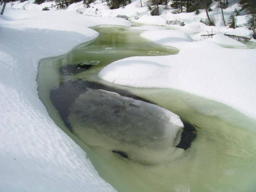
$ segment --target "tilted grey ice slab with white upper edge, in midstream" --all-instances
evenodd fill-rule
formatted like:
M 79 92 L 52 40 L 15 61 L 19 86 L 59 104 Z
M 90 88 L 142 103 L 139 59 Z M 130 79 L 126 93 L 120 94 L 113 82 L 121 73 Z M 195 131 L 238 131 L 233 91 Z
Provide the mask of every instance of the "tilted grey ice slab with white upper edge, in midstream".
M 115 92 L 86 88 L 68 110 L 76 129 L 91 129 L 123 144 L 158 149 L 180 142 L 183 123 L 178 115 Z

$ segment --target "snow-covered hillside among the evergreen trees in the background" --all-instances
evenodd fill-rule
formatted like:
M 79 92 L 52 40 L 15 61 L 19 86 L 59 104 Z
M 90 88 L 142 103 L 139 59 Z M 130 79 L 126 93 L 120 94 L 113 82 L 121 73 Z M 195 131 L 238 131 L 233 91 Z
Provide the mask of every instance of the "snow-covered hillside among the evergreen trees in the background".
M 228 22 L 229 16 L 234 13 L 234 9 L 239 9 L 238 2 L 239 0 L 229 0 L 228 8 L 223 9 L 226 23 Z M 135 0 L 132 1 L 131 4 L 119 9 L 110 9 L 105 0 L 96 0 L 95 2 L 89 4 L 88 8 L 83 4 L 83 1 L 81 1 L 69 5 L 65 11 L 97 17 L 120 17 L 141 24 L 169 26 L 185 33 L 202 32 L 201 34 L 205 34 L 207 31 L 213 31 L 214 33 L 228 32 L 232 35 L 247 36 L 252 38 L 252 30 L 249 30 L 246 26 L 246 15 L 236 16 L 236 25 L 239 28 L 233 29 L 224 27 L 221 12 L 216 9 L 216 2 L 214 1 L 211 4 L 212 11 L 209 12 L 209 15 L 210 18 L 212 18 L 212 20 L 215 22 L 216 26 L 207 26 L 203 23 L 207 22 L 207 16 L 204 10 L 201 10 L 198 15 L 196 15 L 195 12 L 182 12 L 179 14 L 174 14 L 173 12 L 175 10 L 170 7 L 171 3 L 172 2 L 170 1 L 168 9 L 165 9 L 164 5 L 159 5 L 160 16 L 150 15 L 150 11 L 148 9 L 148 0 L 142 0 L 142 7 L 140 7 L 140 0 Z M 38 5 L 34 4 L 34 0 L 28 0 L 22 3 L 20 3 L 20 1 L 16 1 L 7 4 L 8 7 L 25 10 L 42 10 L 44 7 L 51 7 L 52 5 L 55 5 L 54 1 L 45 2 Z M 56 7 L 50 8 L 50 10 L 56 9 Z M 183 24 L 185 24 L 185 26 L 182 26 Z

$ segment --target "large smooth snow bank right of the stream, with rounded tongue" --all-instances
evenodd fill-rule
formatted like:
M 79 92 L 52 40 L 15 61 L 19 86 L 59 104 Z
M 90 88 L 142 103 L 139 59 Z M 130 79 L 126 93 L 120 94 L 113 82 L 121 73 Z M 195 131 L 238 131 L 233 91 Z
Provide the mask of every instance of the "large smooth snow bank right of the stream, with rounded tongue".
M 141 36 L 177 47 L 180 52 L 119 60 L 103 68 L 99 77 L 121 85 L 182 90 L 224 103 L 256 119 L 256 49 L 223 48 L 210 41 L 184 42 L 190 41 L 188 37 L 177 42 L 177 38 L 172 41 L 173 33 L 168 37 L 161 30 L 145 31 Z

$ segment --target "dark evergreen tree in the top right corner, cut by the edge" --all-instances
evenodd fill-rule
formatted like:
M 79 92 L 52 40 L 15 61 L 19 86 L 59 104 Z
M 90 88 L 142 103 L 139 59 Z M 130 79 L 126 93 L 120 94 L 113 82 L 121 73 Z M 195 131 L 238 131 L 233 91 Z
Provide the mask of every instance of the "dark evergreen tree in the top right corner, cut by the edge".
M 241 11 L 244 10 L 246 14 L 248 14 L 248 25 L 249 28 L 252 29 L 253 38 L 256 39 L 256 1 L 255 0 L 241 0 L 239 2 L 241 7 Z

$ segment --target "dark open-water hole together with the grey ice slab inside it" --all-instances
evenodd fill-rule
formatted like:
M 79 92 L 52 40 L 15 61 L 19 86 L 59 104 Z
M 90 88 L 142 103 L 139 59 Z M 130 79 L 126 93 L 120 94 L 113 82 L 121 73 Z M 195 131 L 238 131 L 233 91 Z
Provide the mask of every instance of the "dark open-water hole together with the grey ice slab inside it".
M 171 111 L 103 84 L 64 82 L 51 90 L 50 99 L 66 126 L 85 143 L 89 139 L 92 145 L 116 148 L 140 163 L 168 160 L 175 147 L 187 149 L 196 137 L 195 128 L 184 121 L 183 128 Z

